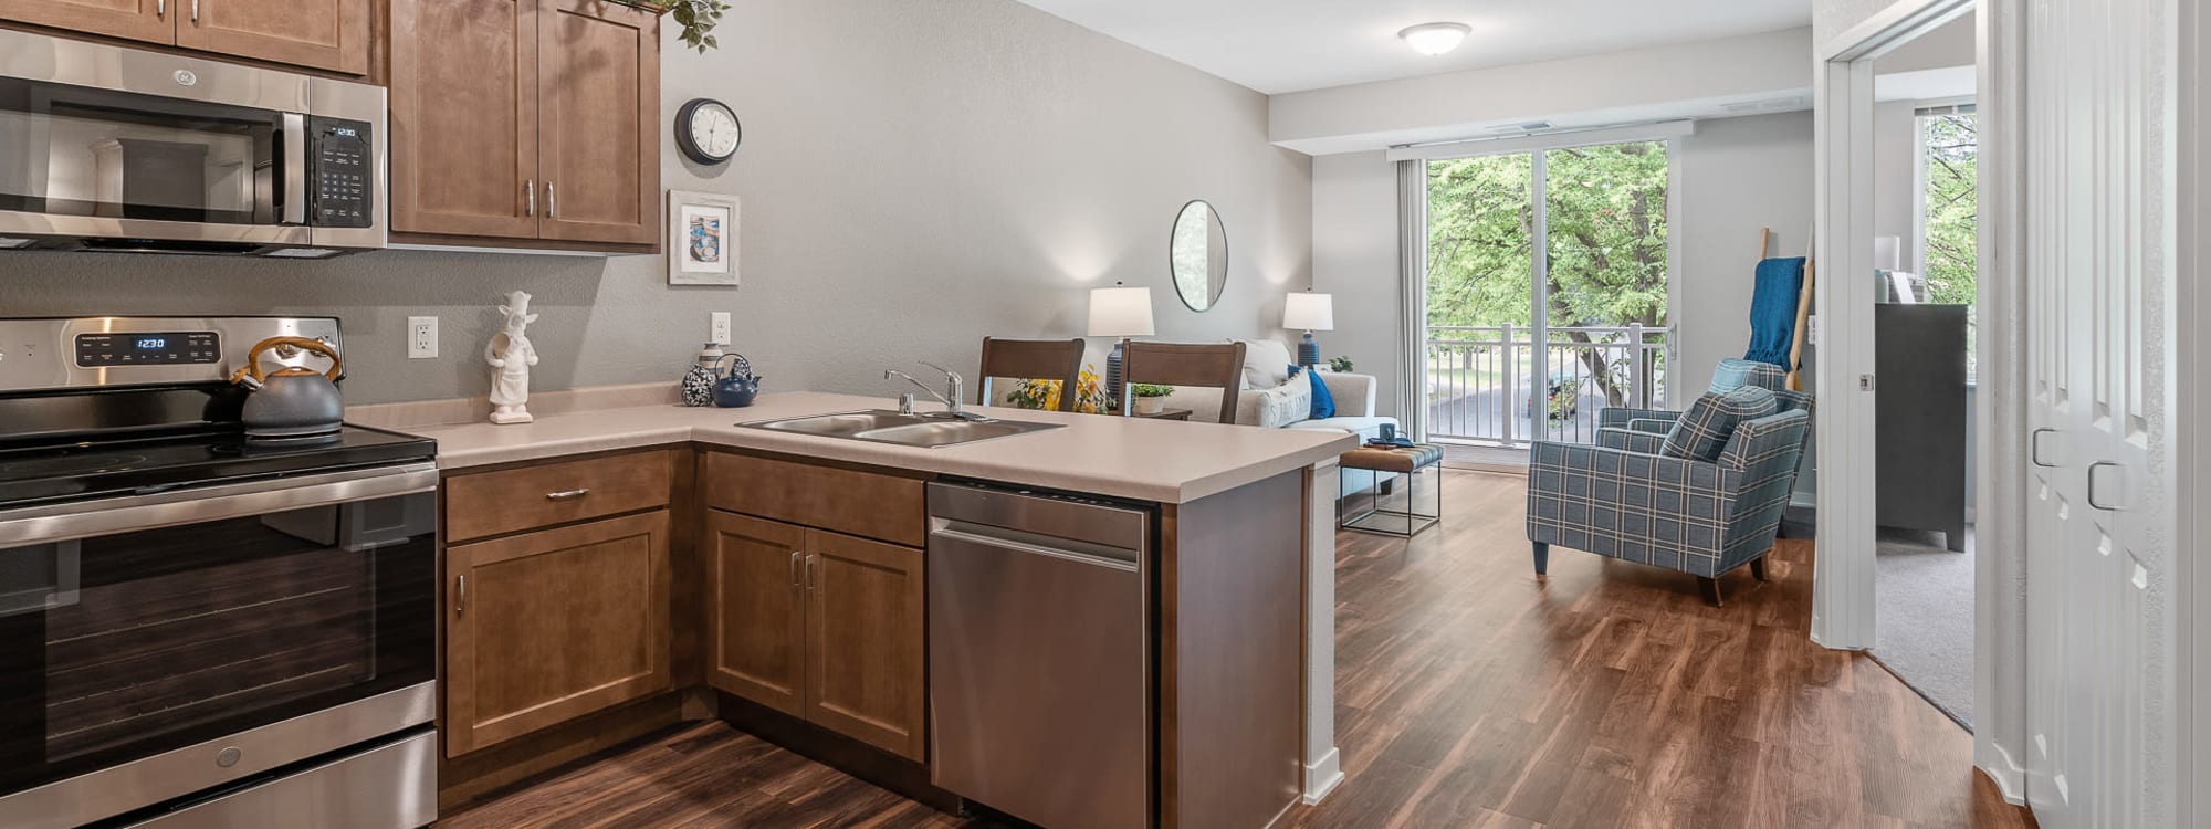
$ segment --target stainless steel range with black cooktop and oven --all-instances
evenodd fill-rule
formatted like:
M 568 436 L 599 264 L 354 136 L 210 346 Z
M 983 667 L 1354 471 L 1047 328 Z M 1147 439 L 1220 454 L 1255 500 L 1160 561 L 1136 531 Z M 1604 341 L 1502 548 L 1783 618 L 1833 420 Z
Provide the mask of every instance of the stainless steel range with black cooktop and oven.
M 436 820 L 436 444 L 248 440 L 270 336 L 0 321 L 0 827 Z

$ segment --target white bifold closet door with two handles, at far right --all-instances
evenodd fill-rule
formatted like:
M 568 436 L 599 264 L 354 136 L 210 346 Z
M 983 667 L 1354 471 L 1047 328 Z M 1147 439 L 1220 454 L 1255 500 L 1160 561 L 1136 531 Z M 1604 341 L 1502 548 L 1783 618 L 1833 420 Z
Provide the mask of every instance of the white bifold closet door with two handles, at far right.
M 2052 829 L 2173 820 L 2173 2 L 2027 15 L 2027 800 Z

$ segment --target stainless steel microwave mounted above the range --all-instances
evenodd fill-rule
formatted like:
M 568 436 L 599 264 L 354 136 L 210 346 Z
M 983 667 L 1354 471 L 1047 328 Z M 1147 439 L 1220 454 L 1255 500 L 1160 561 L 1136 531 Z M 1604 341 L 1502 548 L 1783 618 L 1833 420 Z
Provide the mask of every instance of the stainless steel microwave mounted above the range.
M 336 256 L 387 239 L 385 91 L 0 31 L 0 250 Z

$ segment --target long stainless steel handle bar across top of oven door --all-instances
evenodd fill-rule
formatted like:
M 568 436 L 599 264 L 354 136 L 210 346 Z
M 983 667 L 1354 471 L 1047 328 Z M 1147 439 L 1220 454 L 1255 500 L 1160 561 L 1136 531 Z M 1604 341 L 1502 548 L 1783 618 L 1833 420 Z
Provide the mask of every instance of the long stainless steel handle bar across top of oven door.
M 0 548 L 431 493 L 436 489 L 438 464 L 422 462 L 27 506 L 0 511 Z

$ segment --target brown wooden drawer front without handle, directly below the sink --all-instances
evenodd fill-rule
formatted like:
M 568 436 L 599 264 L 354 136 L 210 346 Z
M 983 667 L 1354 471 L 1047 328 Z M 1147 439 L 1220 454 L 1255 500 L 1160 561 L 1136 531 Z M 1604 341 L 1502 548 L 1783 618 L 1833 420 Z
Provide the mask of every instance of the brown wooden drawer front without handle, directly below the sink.
M 922 480 L 708 453 L 705 504 L 904 546 L 929 539 Z

